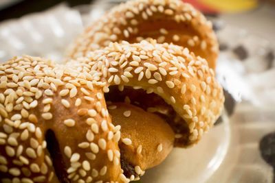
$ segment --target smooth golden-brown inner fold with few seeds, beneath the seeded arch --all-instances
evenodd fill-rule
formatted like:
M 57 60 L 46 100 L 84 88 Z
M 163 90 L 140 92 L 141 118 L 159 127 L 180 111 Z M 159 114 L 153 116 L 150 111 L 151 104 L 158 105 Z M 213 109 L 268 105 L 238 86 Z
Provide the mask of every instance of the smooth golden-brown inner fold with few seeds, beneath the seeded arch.
M 175 134 L 156 114 L 129 103 L 111 103 L 109 113 L 113 124 L 121 126 L 120 151 L 127 162 L 145 170 L 160 164 L 172 150 Z M 131 145 L 125 144 L 127 139 Z

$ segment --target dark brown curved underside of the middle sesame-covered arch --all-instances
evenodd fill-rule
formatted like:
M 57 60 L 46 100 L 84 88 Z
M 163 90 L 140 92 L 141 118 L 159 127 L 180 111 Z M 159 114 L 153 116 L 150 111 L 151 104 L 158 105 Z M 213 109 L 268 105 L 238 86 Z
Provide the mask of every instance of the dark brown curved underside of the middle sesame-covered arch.
M 147 112 L 162 117 L 176 134 L 175 146 L 187 145 L 189 140 L 188 125 L 179 117 L 177 112 L 168 103 L 155 93 L 146 93 L 142 88 L 133 88 L 131 86 L 110 86 L 109 93 L 105 93 L 104 97 L 107 101 L 107 106 L 112 102 L 126 102 L 131 105 L 142 108 Z

